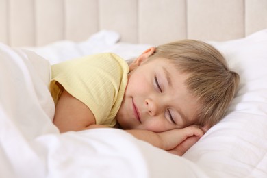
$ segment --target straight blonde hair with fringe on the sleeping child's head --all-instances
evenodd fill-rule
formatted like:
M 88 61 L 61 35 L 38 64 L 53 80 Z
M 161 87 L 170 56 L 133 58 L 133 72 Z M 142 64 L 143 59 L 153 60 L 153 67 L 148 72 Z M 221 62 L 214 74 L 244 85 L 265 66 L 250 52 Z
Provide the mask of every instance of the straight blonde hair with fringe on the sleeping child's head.
M 197 125 L 212 127 L 231 103 L 239 75 L 229 69 L 223 55 L 211 45 L 197 40 L 181 40 L 160 45 L 151 58 L 166 58 L 177 70 L 188 73 L 188 90 L 201 103 Z

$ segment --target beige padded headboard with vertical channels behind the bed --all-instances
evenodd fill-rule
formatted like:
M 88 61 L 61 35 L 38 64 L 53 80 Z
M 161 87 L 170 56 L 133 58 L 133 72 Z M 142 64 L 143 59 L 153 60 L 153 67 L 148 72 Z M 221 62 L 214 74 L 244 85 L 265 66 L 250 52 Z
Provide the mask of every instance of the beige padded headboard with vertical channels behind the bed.
M 0 41 L 40 46 L 101 29 L 124 42 L 230 40 L 267 28 L 267 0 L 0 0 Z

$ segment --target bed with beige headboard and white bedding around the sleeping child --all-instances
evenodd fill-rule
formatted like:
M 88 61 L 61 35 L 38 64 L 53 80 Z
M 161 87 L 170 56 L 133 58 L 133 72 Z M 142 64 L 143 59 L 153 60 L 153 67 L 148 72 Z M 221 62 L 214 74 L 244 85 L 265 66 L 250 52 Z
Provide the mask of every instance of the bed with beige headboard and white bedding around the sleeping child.
M 0 177 L 267 177 L 267 1 L 0 0 Z M 136 57 L 184 38 L 240 74 L 227 114 L 183 156 L 119 129 L 60 134 L 49 66 Z

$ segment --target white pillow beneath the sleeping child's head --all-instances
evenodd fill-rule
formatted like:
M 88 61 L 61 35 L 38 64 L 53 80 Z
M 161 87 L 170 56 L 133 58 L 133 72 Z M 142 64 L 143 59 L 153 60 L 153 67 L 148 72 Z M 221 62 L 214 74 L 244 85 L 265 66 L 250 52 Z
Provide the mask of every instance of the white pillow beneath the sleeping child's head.
M 225 118 L 183 157 L 212 177 L 267 177 L 267 29 L 209 43 L 240 74 L 240 87 Z

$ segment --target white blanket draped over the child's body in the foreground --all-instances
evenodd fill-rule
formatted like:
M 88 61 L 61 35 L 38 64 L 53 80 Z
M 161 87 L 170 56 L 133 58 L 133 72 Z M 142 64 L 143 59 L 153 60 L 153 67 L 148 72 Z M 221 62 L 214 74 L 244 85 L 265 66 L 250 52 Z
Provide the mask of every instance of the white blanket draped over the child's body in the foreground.
M 0 177 L 207 177 L 119 129 L 60 134 L 49 62 L 0 44 Z

